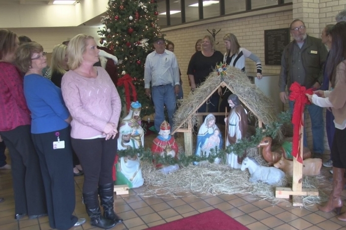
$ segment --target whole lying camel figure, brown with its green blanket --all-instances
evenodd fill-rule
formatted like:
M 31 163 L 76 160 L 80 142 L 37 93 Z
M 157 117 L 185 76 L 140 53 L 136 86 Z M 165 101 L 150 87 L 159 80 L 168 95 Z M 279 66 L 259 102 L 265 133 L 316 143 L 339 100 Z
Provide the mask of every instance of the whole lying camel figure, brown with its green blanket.
M 262 148 L 262 155 L 265 161 L 269 163 L 269 166 L 272 166 L 276 162 L 281 159 L 283 156 L 285 159 L 293 160 L 292 156 L 292 143 L 284 142 L 280 149 L 275 150 L 275 152 L 271 151 L 271 143 L 273 139 L 271 137 L 263 137 L 262 141 L 257 146 L 258 148 Z M 311 152 L 308 148 L 303 148 L 303 159 L 307 159 L 311 157 Z

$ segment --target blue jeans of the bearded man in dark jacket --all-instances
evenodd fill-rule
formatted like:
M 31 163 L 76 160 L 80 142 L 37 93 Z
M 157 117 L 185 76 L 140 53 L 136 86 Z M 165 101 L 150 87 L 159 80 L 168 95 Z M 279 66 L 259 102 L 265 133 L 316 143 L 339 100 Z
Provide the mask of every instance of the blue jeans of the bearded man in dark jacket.
M 293 111 L 294 102 L 289 101 L 290 109 Z M 314 104 L 306 106 L 311 119 L 311 132 L 312 132 L 312 146 L 313 153 L 324 153 L 324 124 L 323 124 L 323 108 Z M 304 117 L 305 120 L 305 117 Z M 305 124 L 304 124 L 304 137 L 303 145 L 307 147 Z

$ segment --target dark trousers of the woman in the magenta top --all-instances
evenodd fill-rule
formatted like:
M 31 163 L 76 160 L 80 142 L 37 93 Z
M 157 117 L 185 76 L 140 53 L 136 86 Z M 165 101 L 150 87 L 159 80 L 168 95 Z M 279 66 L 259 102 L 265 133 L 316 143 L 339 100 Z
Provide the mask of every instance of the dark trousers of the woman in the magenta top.
M 11 156 L 15 214 L 47 213 L 39 157 L 31 139 L 31 126 L 1 131 Z

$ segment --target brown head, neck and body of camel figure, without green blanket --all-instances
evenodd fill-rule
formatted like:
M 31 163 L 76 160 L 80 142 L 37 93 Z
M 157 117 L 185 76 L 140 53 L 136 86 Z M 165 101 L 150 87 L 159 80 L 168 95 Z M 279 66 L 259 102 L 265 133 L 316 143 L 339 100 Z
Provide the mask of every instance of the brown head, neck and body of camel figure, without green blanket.
M 271 151 L 271 143 L 273 139 L 271 137 L 263 137 L 262 141 L 257 146 L 258 148 L 262 147 L 262 155 L 265 161 L 269 163 L 269 166 L 272 166 L 281 159 L 284 153 L 284 148 L 277 149 L 275 152 Z M 292 143 L 290 143 L 292 144 Z M 308 148 L 303 148 L 303 159 L 311 157 L 310 150 Z

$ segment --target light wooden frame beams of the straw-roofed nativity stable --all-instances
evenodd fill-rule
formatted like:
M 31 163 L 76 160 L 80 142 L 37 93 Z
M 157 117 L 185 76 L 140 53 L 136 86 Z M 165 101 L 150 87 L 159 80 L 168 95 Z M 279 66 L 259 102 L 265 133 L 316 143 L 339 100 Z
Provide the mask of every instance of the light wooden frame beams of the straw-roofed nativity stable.
M 216 92 L 216 90 L 220 87 L 227 87 L 230 91 L 232 90 L 232 87 L 230 87 L 228 84 L 226 84 L 224 81 L 221 81 L 220 84 L 216 86 L 216 88 L 198 105 L 198 107 L 193 111 L 186 119 L 187 119 L 187 128 L 181 128 L 184 122 L 181 122 L 179 125 L 174 127 L 174 130 L 172 131 L 172 135 L 175 132 L 184 133 L 184 142 L 185 142 L 185 154 L 186 155 L 192 155 L 193 150 L 193 125 L 192 125 L 192 116 L 196 114 L 198 116 L 198 119 L 203 121 L 203 115 L 213 114 L 213 115 L 224 115 L 224 113 L 197 113 L 197 110 Z M 259 115 L 255 113 L 249 105 L 245 102 L 244 99 L 239 97 L 239 100 L 257 117 L 259 118 Z M 200 123 L 202 123 L 200 121 Z M 259 127 L 262 127 L 262 120 L 259 119 Z

